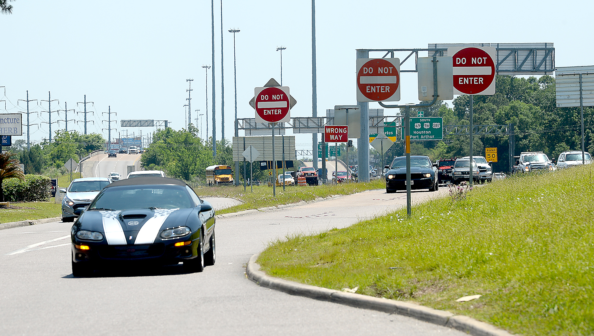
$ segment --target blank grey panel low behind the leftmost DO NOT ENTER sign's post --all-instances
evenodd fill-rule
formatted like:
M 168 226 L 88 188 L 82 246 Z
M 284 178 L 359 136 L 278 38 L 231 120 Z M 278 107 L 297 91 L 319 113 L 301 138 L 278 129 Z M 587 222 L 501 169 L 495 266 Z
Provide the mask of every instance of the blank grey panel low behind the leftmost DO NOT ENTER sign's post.
M 233 161 L 244 160 L 244 139 L 246 149 L 249 145 L 252 145 L 260 153 L 258 160 L 273 160 L 272 137 L 233 137 Z M 276 159 L 282 156 L 282 138 L 277 137 L 276 141 L 274 141 L 274 151 L 276 151 Z M 295 156 L 295 137 L 285 137 L 285 160 L 297 160 Z

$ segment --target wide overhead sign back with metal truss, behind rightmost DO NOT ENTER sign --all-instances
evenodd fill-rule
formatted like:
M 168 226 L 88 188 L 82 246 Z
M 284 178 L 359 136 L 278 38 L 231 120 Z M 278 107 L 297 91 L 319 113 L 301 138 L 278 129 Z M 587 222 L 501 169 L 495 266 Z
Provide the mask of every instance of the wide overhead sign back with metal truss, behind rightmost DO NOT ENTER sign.
M 552 43 L 429 43 L 428 47 L 437 50 L 436 56 L 452 56 L 444 51 L 450 47 L 495 47 L 498 75 L 549 75 L 555 69 Z M 433 56 L 431 51 L 428 56 Z

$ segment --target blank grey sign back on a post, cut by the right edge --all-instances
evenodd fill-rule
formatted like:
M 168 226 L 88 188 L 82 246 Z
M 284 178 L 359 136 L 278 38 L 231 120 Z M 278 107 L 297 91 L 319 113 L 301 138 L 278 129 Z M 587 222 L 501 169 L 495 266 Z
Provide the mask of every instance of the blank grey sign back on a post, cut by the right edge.
M 594 65 L 555 68 L 557 107 L 580 106 L 580 77 L 583 106 L 594 106 Z

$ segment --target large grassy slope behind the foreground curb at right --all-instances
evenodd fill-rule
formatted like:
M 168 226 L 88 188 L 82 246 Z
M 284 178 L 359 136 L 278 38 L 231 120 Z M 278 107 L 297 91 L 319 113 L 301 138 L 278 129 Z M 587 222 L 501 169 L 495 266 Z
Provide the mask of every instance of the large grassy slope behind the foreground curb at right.
M 411 300 L 522 335 L 594 335 L 594 165 L 517 176 L 272 243 L 274 277 Z M 390 268 L 392 267 L 392 268 Z M 482 294 L 470 302 L 458 297 Z

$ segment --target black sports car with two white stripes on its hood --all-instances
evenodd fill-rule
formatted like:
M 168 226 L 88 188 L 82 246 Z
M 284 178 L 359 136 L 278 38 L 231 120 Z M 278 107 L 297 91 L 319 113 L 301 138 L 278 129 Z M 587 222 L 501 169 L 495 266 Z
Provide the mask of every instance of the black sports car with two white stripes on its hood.
M 188 272 L 214 265 L 214 210 L 184 181 L 137 177 L 113 182 L 71 229 L 72 275 L 101 265 L 178 264 Z

